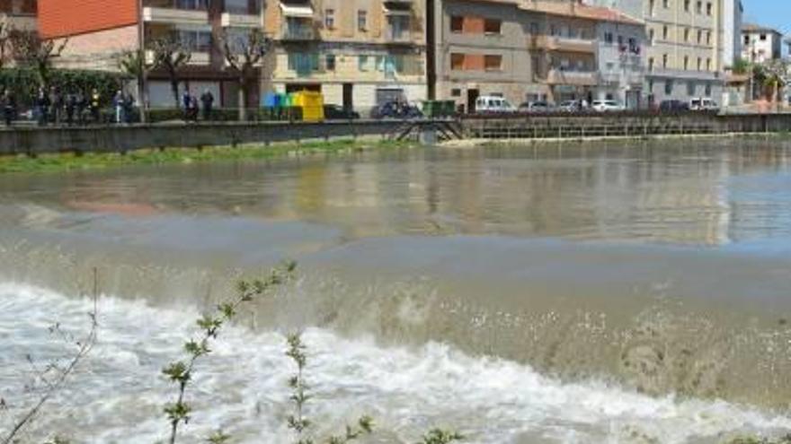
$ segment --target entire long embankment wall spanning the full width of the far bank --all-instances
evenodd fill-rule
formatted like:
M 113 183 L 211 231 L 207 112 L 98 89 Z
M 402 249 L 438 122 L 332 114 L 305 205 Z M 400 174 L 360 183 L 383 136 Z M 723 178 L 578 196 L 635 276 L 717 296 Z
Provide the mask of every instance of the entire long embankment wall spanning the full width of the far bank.
M 680 115 L 615 113 L 582 116 L 468 117 L 443 136 L 547 139 L 610 136 L 791 132 L 791 114 Z M 198 123 L 135 126 L 14 127 L 0 130 L 0 155 L 47 152 L 128 152 L 144 148 L 271 144 L 360 136 L 397 137 L 435 130 L 431 122 L 396 120 L 325 123 Z

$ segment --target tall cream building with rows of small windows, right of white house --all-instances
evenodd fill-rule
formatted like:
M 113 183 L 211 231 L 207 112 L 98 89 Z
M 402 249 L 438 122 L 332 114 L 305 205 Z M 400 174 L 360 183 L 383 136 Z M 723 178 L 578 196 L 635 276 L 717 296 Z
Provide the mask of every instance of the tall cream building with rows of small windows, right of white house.
M 644 20 L 644 96 L 662 100 L 722 97 L 724 8 L 727 0 L 586 0 Z

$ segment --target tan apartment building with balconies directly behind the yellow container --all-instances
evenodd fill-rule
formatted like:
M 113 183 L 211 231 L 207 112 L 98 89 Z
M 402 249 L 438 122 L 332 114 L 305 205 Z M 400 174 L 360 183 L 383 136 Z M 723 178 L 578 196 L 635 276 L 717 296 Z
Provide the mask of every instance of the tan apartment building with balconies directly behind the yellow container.
M 426 99 L 421 0 L 271 0 L 264 29 L 276 42 L 266 91 L 321 91 L 326 103 L 368 112 Z

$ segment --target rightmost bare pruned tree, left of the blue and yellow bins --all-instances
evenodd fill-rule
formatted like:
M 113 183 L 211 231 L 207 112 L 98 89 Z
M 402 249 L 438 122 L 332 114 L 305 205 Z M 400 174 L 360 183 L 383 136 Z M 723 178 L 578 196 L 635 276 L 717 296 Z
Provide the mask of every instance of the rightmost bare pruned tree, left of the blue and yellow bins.
M 246 34 L 223 30 L 218 39 L 229 69 L 239 81 L 239 120 L 247 119 L 247 101 L 257 68 L 271 48 L 271 39 L 262 30 L 254 28 Z

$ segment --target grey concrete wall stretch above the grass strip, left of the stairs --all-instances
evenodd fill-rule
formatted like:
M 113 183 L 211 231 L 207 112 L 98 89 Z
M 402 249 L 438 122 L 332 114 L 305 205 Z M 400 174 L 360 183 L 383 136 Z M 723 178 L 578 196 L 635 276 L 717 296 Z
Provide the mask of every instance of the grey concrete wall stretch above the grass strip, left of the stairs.
M 0 130 L 0 155 L 47 152 L 128 152 L 144 148 L 271 144 L 316 139 L 388 136 L 403 123 L 211 123 Z

